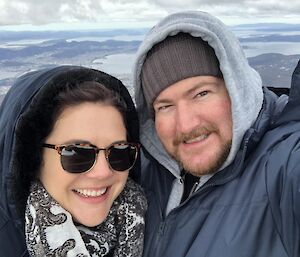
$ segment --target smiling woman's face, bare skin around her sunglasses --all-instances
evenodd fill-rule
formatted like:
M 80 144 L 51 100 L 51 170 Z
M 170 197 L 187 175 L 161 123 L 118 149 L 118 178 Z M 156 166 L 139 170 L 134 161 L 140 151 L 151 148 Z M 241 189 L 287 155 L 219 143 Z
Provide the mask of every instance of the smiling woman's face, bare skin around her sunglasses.
M 126 141 L 126 128 L 118 110 L 101 103 L 82 103 L 62 112 L 45 143 L 84 142 L 106 148 L 116 141 Z M 43 152 L 42 184 L 76 222 L 85 226 L 96 226 L 105 220 L 127 177 L 128 171 L 109 168 L 104 151 L 99 152 L 90 171 L 79 174 L 62 168 L 56 150 L 45 148 Z

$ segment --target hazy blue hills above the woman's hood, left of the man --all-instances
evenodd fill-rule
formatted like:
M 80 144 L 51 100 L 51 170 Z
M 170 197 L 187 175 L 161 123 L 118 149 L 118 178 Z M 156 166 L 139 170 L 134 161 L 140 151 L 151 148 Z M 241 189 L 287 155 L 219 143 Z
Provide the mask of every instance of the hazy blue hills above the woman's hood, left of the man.
M 82 65 L 93 67 L 96 61 L 109 55 L 134 53 L 140 41 L 75 41 L 65 39 L 47 40 L 22 47 L 0 47 L 0 86 L 7 84 L 4 78 L 57 65 Z

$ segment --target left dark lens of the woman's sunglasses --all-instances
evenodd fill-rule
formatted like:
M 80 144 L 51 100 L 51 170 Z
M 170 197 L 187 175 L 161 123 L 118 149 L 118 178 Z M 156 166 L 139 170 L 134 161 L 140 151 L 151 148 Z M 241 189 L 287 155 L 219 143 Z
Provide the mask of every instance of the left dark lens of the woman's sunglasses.
M 61 152 L 61 165 L 70 173 L 81 173 L 93 167 L 96 152 L 91 147 L 66 146 Z

